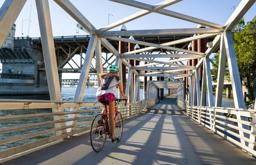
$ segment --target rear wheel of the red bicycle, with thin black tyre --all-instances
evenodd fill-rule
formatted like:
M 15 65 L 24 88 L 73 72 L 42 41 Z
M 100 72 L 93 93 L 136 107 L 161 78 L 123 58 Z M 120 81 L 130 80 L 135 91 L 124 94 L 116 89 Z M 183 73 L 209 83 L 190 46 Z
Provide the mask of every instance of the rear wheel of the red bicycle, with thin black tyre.
M 98 121 L 101 122 L 98 123 Z M 105 134 L 104 124 L 105 117 L 102 114 L 96 115 L 92 121 L 90 140 L 92 149 L 96 152 L 101 151 L 106 142 L 107 135 Z

